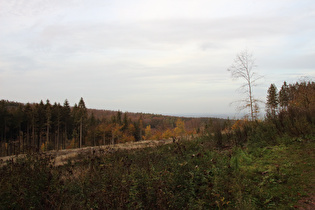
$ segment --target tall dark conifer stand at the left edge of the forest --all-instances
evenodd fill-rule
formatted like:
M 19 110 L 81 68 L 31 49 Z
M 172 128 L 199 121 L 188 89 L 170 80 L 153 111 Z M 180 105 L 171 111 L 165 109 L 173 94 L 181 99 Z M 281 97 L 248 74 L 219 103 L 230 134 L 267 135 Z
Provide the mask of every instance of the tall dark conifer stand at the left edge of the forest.
M 21 104 L 0 102 L 1 154 L 11 155 L 41 149 L 66 148 L 69 139 L 82 145 L 87 109 L 83 98 L 73 108 L 49 100 Z

